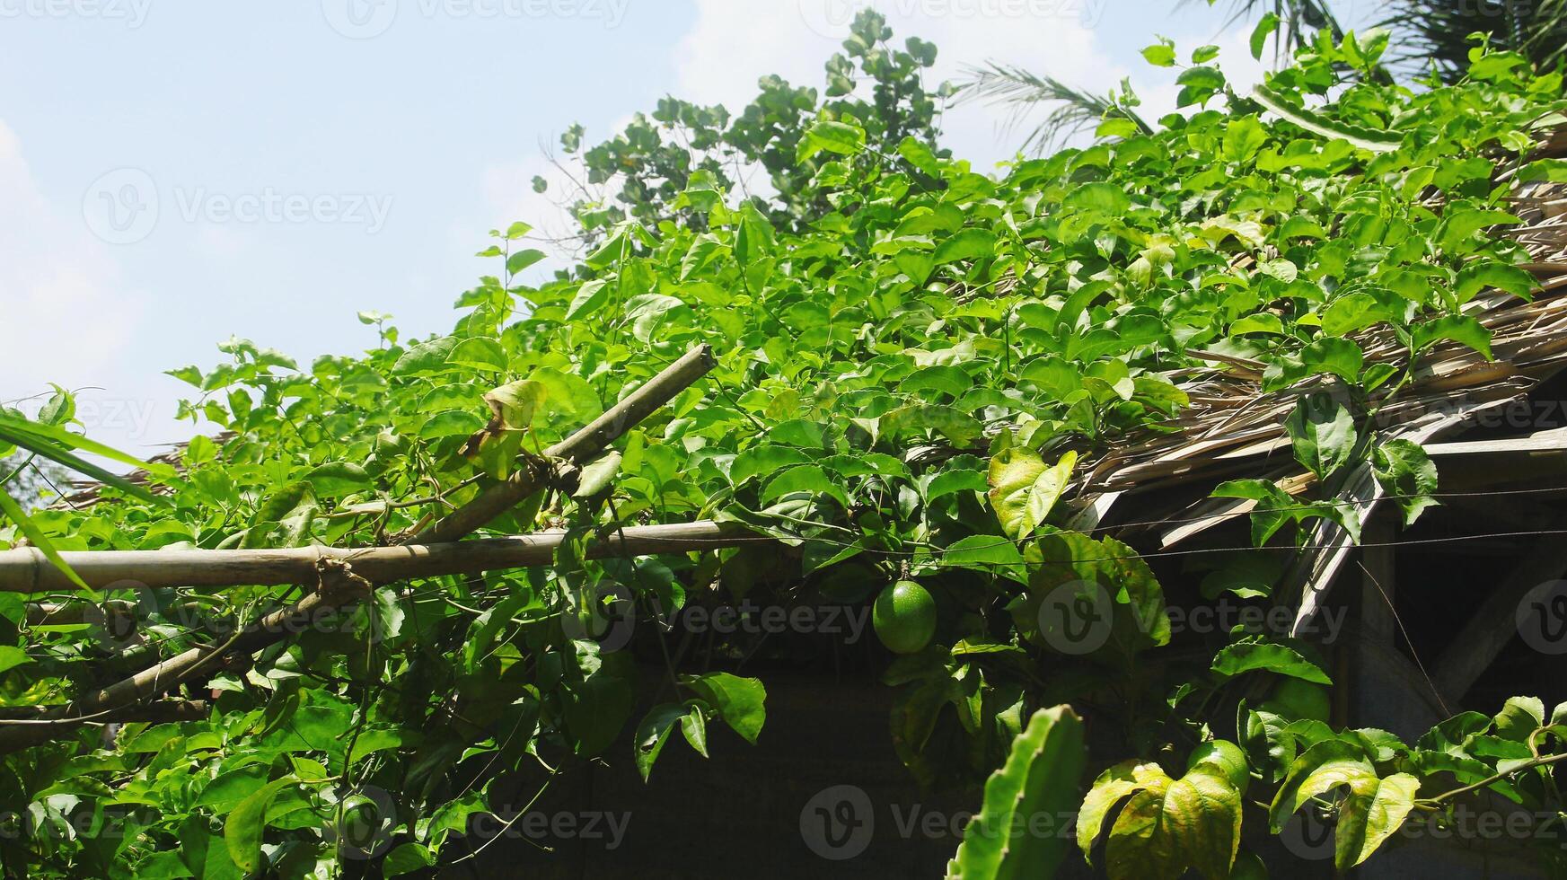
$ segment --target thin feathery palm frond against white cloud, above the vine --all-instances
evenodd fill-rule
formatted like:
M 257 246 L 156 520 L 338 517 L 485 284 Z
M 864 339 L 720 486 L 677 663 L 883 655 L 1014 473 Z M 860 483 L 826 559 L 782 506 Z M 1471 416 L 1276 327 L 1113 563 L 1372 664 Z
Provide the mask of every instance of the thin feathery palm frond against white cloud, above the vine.
M 1094 94 L 1022 67 L 997 63 L 970 67 L 968 80 L 961 88 L 961 102 L 1011 105 L 1008 130 L 1020 125 L 1034 110 L 1050 106 L 1019 147 L 1025 153 L 1040 155 L 1061 139 L 1094 128 L 1103 119 L 1130 119 L 1141 132 L 1153 133 L 1153 128 L 1114 92 Z

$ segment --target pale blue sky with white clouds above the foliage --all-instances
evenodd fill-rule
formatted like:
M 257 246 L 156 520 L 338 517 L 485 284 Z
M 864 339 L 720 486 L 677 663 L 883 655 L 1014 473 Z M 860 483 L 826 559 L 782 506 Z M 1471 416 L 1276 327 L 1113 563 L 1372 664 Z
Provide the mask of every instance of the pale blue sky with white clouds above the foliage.
M 375 344 L 359 310 L 450 329 L 492 271 L 486 230 L 564 230 L 528 186 L 558 179 L 564 128 L 595 142 L 664 94 L 738 108 L 774 72 L 820 86 L 863 5 L 0 0 L 0 401 L 83 388 L 94 437 L 150 454 L 197 431 L 161 371 L 219 362 L 230 335 L 307 363 Z M 1155 33 L 1219 44 L 1232 78 L 1261 69 L 1250 25 L 1200 0 L 874 5 L 937 44 L 937 78 L 989 60 L 1131 77 L 1155 116 L 1175 96 L 1138 55 Z M 1003 116 L 950 111 L 950 146 L 992 168 L 1019 141 Z

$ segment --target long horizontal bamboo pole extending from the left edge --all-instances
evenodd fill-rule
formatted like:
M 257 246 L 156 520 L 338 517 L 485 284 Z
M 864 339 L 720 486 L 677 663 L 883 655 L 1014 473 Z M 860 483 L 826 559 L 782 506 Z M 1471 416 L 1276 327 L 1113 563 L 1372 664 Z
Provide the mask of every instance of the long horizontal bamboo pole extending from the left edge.
M 407 578 L 476 575 L 505 568 L 550 565 L 555 550 L 566 540 L 559 529 L 461 540 L 448 543 L 404 543 L 400 546 L 299 546 L 290 550 L 103 550 L 63 553 L 77 575 L 96 590 L 154 587 L 240 587 L 310 584 L 317 565 L 340 561 L 353 565 L 367 581 L 384 584 Z M 685 553 L 715 546 L 738 546 L 766 540 L 735 523 L 699 520 L 657 526 L 627 526 L 594 540 L 589 556 L 649 556 Z M 0 592 L 39 593 L 77 592 L 58 568 L 36 548 L 0 551 Z M 88 622 L 80 606 L 36 606 L 38 623 Z M 121 606 L 114 606 L 121 611 Z M 125 614 L 132 608 L 122 609 Z

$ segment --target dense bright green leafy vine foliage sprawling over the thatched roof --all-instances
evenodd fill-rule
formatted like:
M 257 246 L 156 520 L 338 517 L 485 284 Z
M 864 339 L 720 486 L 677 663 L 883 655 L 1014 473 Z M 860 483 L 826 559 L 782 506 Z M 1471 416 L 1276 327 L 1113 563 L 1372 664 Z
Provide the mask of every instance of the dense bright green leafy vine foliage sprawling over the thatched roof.
M 1182 64 L 1160 44 L 1149 56 L 1182 66 L 1183 113 L 1153 133 L 1108 119 L 1092 146 L 997 177 L 934 146 L 917 85 L 934 49 L 888 38 L 862 16 L 826 100 L 765 80 L 732 122 L 668 102 L 589 149 L 599 180 L 625 175 L 614 200 L 580 205 L 591 254 L 525 283 L 516 272 L 541 258 L 523 247 L 530 227 L 495 230 L 483 255 L 497 274 L 458 299 L 450 334 L 403 340 L 365 313 L 379 344 L 362 355 L 301 366 L 230 340 L 227 363 L 174 371 L 199 390 L 186 412 L 226 434 L 194 440 L 157 500 L 108 487 L 105 503 L 34 514 L 41 539 L 389 543 L 537 465 L 691 346 L 719 355 L 605 459 L 489 525 L 567 529 L 552 567 L 381 586 L 342 620 L 212 669 L 185 694 L 210 701 L 202 720 L 83 728 L 6 755 L 6 871 L 396 875 L 451 861 L 475 846 L 470 817 L 516 811 L 492 799 L 497 778 L 555 778 L 600 755 L 652 777 L 664 748 L 757 742 L 763 681 L 722 651 L 718 672 L 682 667 L 661 619 L 747 595 L 865 601 L 899 579 L 939 611 L 931 642 L 887 667 L 899 756 L 931 784 L 1001 767 L 983 816 L 1081 803 L 1078 842 L 1111 877 L 1260 875 L 1246 841 L 1307 808 L 1337 816 L 1341 867 L 1465 786 L 1558 810 L 1567 709 L 1517 698 L 1413 744 L 1335 728 L 1310 645 L 1172 634 L 1149 561 L 1073 526 L 1087 463 L 1164 431 L 1214 354 L 1263 365 L 1269 390 L 1324 388 L 1287 426 L 1318 495 L 1216 489 L 1257 501 L 1258 545 L 1304 542 L 1324 518 L 1357 529 L 1332 490 L 1368 459 L 1418 517 L 1429 459 L 1377 442 L 1366 417 L 1435 346 L 1487 351 L 1464 313 L 1481 290 L 1529 296 L 1525 254 L 1496 235 L 1517 218 L 1493 174 L 1561 122 L 1561 75 L 1476 50 L 1465 80 L 1410 89 L 1363 75 L 1385 39 L 1323 36 L 1247 97 L 1211 47 Z M 691 149 L 671 141 L 679 130 Z M 733 163 L 765 168 L 774 193 L 732 191 Z M 1562 175 L 1545 161 L 1517 177 Z M 1401 357 L 1365 357 L 1368 329 L 1393 334 Z M 625 525 L 697 518 L 777 542 L 584 553 Z M 1238 554 L 1205 598 L 1290 608 L 1297 597 L 1272 595 L 1277 556 Z M 0 593 L 0 709 L 66 703 L 221 644 L 296 595 L 111 590 L 136 603 L 127 634 L 34 625 Z M 1089 622 L 1070 611 L 1095 601 L 1108 625 L 1092 650 L 1064 648 Z M 636 662 L 666 648 L 668 669 Z M 674 698 L 638 717 L 649 692 Z M 1058 703 L 1075 711 L 1045 709 Z M 1083 756 L 1080 723 L 1114 755 Z M 633 755 L 608 753 L 622 731 Z M 962 877 L 1048 872 L 1061 857 L 973 828 Z

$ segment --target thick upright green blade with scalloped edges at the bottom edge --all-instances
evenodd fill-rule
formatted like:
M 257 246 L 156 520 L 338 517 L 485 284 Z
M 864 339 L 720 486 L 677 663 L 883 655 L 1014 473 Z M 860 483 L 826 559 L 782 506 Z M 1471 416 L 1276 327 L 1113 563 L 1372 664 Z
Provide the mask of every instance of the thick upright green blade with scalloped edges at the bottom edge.
M 1066 855 L 1062 835 L 1034 833 L 1039 816 L 1078 805 L 1087 748 L 1070 706 L 1039 709 L 1012 741 L 1006 764 L 984 783 L 979 813 L 964 827 L 948 880 L 1048 880 Z

